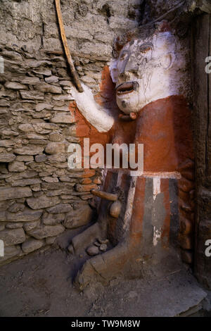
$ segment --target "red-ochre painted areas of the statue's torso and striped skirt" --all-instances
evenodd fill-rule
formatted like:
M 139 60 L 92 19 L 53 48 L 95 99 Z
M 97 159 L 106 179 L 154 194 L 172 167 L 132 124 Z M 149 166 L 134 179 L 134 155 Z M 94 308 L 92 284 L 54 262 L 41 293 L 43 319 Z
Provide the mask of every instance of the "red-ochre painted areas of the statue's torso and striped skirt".
M 118 118 L 120 113 L 115 103 L 115 86 L 110 78 L 108 67 L 102 73 L 101 92 L 96 96 L 101 106 L 109 107 L 115 117 L 115 124 L 109 132 L 100 133 L 79 113 L 75 102 L 70 104 L 70 112 L 75 116 L 76 135 L 83 146 L 83 139 L 89 138 L 90 145 L 103 144 L 143 144 L 143 168 L 147 173 L 181 174 L 178 180 L 179 226 L 185 227 L 180 233 L 183 249 L 191 249 L 191 232 L 193 228 L 193 189 L 194 189 L 194 152 L 191 130 L 191 110 L 183 96 L 169 96 L 154 101 L 139 112 L 136 120 L 124 122 Z M 90 155 L 91 156 L 91 155 Z M 131 237 L 136 242 L 141 237 L 144 213 L 144 177 L 136 183 Z M 170 234 L 170 192 L 169 179 L 161 180 L 161 192 L 166 216 L 163 220 L 163 244 L 166 245 Z M 181 224 L 182 223 L 182 224 Z M 187 227 L 190 227 L 187 230 Z

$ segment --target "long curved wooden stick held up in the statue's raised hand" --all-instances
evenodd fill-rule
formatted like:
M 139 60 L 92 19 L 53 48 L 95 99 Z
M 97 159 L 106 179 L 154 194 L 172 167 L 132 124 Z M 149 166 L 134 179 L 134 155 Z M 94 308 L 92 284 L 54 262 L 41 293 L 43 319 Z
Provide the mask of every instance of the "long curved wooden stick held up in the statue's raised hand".
M 81 82 L 79 81 L 77 71 L 75 70 L 75 65 L 72 61 L 72 56 L 70 54 L 68 41 L 67 41 L 67 38 L 66 38 L 66 35 L 65 35 L 65 27 L 64 27 L 64 23 L 63 23 L 63 16 L 62 16 L 62 13 L 61 13 L 61 10 L 60 10 L 60 0 L 55 0 L 55 3 L 56 3 L 56 13 L 57 13 L 57 16 L 58 16 L 58 25 L 59 25 L 59 28 L 60 28 L 60 36 L 61 36 L 62 41 L 63 41 L 63 46 L 64 46 L 64 49 L 65 49 L 65 54 L 67 56 L 68 64 L 70 65 L 70 71 L 71 71 L 72 76 L 75 80 L 75 85 L 77 86 L 77 89 L 79 90 L 79 92 L 84 92 L 84 89 L 81 85 Z

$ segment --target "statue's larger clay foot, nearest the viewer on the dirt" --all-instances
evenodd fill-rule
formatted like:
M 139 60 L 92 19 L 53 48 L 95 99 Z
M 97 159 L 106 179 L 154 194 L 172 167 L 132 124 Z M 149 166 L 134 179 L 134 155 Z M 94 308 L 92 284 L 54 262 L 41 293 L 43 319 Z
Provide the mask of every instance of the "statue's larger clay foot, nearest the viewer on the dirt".
M 88 285 L 101 282 L 107 285 L 110 280 L 120 276 L 128 260 L 126 244 L 118 244 L 106 253 L 94 256 L 84 263 L 75 278 L 75 285 L 81 291 Z

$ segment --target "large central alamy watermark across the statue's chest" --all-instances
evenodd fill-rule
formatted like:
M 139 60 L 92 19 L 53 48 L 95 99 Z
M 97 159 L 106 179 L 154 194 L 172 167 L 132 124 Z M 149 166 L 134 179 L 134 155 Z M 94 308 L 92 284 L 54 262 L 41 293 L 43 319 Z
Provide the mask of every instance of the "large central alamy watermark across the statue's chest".
M 79 144 L 70 144 L 68 167 L 70 169 L 131 169 L 143 173 L 143 144 L 92 144 L 84 138 L 83 151 Z M 91 155 L 91 156 L 90 156 Z

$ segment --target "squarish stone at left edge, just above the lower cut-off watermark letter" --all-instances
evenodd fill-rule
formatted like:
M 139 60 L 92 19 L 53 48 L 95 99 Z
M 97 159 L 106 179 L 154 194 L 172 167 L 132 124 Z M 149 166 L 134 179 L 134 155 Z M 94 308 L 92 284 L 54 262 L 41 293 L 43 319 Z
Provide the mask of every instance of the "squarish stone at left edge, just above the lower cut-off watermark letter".
M 0 239 L 4 241 L 5 246 L 22 244 L 25 242 L 25 232 L 23 228 L 15 230 L 3 230 L 0 232 Z

